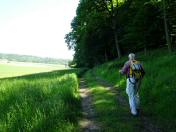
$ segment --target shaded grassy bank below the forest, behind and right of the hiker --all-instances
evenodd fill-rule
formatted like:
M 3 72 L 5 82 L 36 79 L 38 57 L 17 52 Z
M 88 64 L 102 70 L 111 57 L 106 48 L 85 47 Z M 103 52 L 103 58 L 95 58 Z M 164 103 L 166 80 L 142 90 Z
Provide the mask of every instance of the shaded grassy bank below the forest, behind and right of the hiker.
M 176 131 L 176 55 L 166 50 L 153 50 L 144 56 L 137 54 L 143 63 L 146 75 L 142 81 L 140 95 L 142 109 L 169 131 Z M 126 79 L 119 75 L 127 57 L 93 69 L 93 72 L 117 88 L 125 89 Z M 125 90 L 124 90 L 125 94 Z

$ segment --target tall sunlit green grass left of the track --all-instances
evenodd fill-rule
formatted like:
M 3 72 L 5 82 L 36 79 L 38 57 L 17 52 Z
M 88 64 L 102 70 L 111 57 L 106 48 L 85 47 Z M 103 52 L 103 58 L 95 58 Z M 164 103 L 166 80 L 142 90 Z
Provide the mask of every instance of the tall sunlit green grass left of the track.
M 76 131 L 79 114 L 73 72 L 0 80 L 0 131 Z

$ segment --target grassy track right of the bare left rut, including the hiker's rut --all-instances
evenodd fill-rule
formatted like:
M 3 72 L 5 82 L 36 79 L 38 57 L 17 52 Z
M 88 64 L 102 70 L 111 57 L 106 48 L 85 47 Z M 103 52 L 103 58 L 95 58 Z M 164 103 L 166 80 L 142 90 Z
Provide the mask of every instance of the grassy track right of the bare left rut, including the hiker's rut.
M 141 112 L 139 117 L 131 116 L 128 99 L 121 89 L 113 87 L 100 77 L 86 77 L 92 94 L 92 104 L 97 114 L 95 120 L 101 125 L 100 131 L 108 132 L 162 132 L 150 115 Z

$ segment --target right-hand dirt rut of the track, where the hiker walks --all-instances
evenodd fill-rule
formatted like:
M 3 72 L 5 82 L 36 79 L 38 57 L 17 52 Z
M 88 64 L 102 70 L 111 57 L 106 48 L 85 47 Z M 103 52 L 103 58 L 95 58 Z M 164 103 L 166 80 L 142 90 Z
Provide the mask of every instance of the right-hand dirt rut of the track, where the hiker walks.
M 108 88 L 112 93 L 115 93 L 117 96 L 117 101 L 119 102 L 121 107 L 124 107 L 125 109 L 129 109 L 128 100 L 122 95 L 122 91 L 118 88 L 113 87 L 110 83 L 107 81 L 96 77 L 96 80 L 99 84 L 103 85 L 104 87 Z M 123 116 L 125 116 L 126 120 L 130 120 L 129 114 L 123 113 Z M 139 119 L 139 124 L 137 126 L 134 126 L 137 130 L 140 132 L 164 132 L 161 128 L 159 128 L 154 121 L 150 120 L 145 113 L 141 112 L 140 116 L 137 117 Z

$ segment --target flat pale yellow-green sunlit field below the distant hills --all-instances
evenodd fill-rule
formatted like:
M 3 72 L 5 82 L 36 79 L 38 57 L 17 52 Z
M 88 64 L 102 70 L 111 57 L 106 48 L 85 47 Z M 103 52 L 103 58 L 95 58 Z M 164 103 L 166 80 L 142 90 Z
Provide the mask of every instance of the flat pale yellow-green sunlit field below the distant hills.
M 59 69 L 65 69 L 65 66 L 22 62 L 0 62 L 0 78 L 48 72 Z

